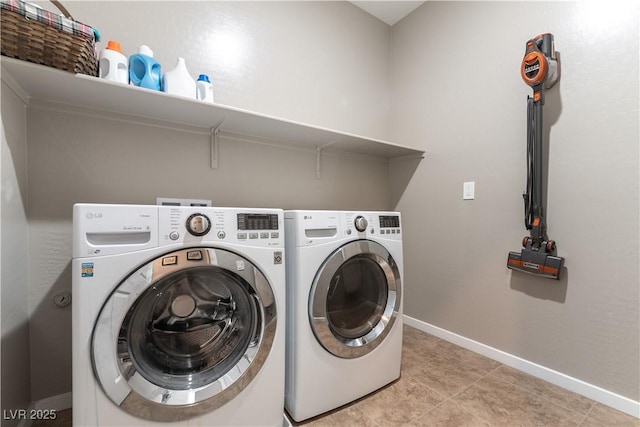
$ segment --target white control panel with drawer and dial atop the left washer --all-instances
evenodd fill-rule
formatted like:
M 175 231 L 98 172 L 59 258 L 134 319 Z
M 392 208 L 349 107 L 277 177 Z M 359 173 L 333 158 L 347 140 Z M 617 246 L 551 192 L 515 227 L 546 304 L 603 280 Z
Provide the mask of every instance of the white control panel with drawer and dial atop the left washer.
M 158 246 L 284 247 L 281 209 L 76 204 L 73 257 Z

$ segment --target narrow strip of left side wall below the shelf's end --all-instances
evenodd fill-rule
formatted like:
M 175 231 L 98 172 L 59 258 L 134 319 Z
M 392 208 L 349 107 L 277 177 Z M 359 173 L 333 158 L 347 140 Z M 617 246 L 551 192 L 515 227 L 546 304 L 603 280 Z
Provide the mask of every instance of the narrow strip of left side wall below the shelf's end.
M 25 408 L 31 397 L 27 303 L 27 115 L 22 102 L 4 82 L 0 94 L 0 399 L 2 409 L 17 410 Z M 18 421 L 3 420 L 2 425 L 15 425 Z

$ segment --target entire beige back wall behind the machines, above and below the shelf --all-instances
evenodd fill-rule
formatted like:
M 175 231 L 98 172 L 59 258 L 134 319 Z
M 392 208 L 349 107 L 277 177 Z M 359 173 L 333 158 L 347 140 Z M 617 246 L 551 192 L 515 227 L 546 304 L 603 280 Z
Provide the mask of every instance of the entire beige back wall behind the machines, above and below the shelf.
M 386 138 L 390 28 L 346 2 L 73 2 L 75 17 L 117 39 L 146 43 L 164 65 L 184 56 L 209 73 L 217 102 Z M 176 31 L 180 29 L 180 31 Z M 241 43 L 226 52 L 222 41 Z M 213 40 L 203 44 L 202 40 Z M 235 41 L 234 41 L 235 40 Z M 104 43 L 103 43 L 104 44 Z M 236 62 L 234 62 L 236 61 Z M 210 199 L 218 206 L 389 209 L 386 162 L 221 138 L 90 114 L 28 112 L 32 399 L 71 390 L 71 316 L 51 297 L 71 289 L 75 202 Z

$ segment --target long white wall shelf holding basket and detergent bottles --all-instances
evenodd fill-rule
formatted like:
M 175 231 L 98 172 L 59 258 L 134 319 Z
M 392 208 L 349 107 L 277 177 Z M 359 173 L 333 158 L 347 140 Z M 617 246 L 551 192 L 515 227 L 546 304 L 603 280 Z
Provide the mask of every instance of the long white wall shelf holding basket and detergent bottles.
M 365 154 L 386 159 L 422 158 L 424 152 L 388 141 L 296 123 L 220 104 L 191 100 L 72 74 L 2 57 L 2 79 L 14 86 L 25 103 L 52 102 L 61 108 L 89 109 L 165 125 L 194 126 L 307 147 Z M 8 76 L 7 76 L 8 74 Z M 15 86 L 18 86 L 15 88 Z

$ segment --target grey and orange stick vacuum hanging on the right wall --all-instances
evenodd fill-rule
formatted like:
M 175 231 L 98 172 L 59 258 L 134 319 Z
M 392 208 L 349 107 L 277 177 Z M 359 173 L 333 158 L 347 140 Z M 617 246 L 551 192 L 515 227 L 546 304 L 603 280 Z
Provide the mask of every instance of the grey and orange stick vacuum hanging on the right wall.
M 556 256 L 556 243 L 547 237 L 542 197 L 542 106 L 544 90 L 559 77 L 552 34 L 541 34 L 527 42 L 520 67 L 522 79 L 533 88 L 527 96 L 527 189 L 524 198 L 525 227 L 520 252 L 509 252 L 507 267 L 550 279 L 560 279 L 564 258 Z

